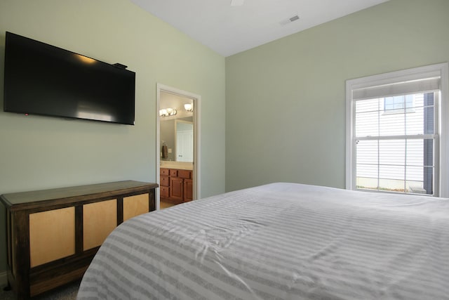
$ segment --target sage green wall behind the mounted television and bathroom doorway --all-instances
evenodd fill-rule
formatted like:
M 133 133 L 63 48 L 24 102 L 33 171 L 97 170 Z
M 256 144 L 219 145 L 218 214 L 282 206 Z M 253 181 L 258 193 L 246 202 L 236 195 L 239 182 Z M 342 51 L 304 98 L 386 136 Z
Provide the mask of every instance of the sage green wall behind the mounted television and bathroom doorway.
M 201 195 L 225 191 L 225 58 L 128 0 L 0 1 L 5 32 L 122 63 L 136 73 L 135 126 L 0 112 L 0 194 L 156 180 L 156 82 L 201 95 Z M 24 88 L 26 88 L 24 86 Z M 0 211 L 0 275 L 6 270 Z

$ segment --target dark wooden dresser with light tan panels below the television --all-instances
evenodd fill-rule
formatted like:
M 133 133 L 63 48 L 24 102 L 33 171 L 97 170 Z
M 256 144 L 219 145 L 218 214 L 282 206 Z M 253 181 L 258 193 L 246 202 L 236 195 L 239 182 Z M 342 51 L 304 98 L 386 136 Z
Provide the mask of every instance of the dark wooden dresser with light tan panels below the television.
M 119 181 L 1 195 L 8 283 L 18 299 L 81 278 L 116 226 L 154 211 L 157 187 Z

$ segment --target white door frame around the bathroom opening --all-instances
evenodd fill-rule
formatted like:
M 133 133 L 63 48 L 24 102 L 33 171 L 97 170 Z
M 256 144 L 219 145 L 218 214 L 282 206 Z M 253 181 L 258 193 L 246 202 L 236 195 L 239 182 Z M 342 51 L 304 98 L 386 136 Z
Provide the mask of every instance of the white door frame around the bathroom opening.
M 201 141 L 201 96 L 188 91 L 166 86 L 164 84 L 156 84 L 156 183 L 161 185 L 161 117 L 159 117 L 159 109 L 161 102 L 161 91 L 174 93 L 175 95 L 191 98 L 194 102 L 194 200 L 201 198 L 201 160 L 200 160 L 200 141 Z M 161 203 L 161 195 L 159 188 L 156 189 L 156 209 L 159 209 Z

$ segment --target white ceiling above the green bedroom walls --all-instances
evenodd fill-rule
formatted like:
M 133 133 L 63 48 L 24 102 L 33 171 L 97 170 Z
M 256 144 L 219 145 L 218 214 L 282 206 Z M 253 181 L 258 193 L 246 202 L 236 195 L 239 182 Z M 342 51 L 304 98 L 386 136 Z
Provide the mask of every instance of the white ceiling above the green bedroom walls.
M 222 56 L 232 56 L 388 0 L 245 0 L 242 6 L 231 6 L 231 0 L 131 1 Z M 295 15 L 299 20 L 290 22 Z

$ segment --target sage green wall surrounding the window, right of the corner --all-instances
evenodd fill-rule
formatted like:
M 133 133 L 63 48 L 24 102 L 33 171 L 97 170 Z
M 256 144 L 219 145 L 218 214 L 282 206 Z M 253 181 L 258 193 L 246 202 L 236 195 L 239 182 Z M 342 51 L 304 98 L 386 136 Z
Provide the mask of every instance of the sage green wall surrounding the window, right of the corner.
M 391 0 L 226 58 L 226 190 L 344 188 L 345 81 L 448 61 L 448 14 Z

